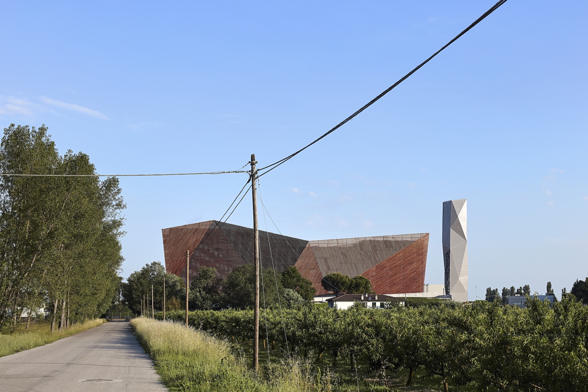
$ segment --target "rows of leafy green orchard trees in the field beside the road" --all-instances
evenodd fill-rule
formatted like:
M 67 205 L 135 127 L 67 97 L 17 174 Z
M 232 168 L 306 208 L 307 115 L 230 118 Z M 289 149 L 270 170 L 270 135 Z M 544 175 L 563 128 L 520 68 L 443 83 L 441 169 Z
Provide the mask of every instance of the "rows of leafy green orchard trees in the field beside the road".
M 161 319 L 162 313 L 155 316 Z M 169 311 L 166 318 L 183 322 L 185 313 Z M 249 344 L 253 311 L 192 311 L 189 323 Z M 588 385 L 588 307 L 570 294 L 553 305 L 527 297 L 524 309 L 498 301 L 383 310 L 268 309 L 260 313 L 259 331 L 265 350 L 312 355 L 323 366 L 348 365 L 353 374 L 356 368 L 380 376 L 404 368 L 409 385 L 418 371 L 421 377 L 440 377 L 445 391 L 449 386 L 583 391 Z

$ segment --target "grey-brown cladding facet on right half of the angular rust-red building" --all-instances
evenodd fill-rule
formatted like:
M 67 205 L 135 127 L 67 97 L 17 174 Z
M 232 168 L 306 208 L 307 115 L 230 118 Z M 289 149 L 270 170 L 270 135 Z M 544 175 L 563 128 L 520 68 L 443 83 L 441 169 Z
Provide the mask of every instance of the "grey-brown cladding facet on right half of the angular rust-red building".
M 426 233 L 310 241 L 323 276 L 333 272 L 355 277 L 412 244 Z

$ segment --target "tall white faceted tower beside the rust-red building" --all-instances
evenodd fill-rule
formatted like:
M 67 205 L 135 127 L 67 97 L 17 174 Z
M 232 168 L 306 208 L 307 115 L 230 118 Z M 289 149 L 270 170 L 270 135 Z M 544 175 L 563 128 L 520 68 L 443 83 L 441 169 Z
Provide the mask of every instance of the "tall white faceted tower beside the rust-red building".
M 443 202 L 445 293 L 467 301 L 467 200 Z

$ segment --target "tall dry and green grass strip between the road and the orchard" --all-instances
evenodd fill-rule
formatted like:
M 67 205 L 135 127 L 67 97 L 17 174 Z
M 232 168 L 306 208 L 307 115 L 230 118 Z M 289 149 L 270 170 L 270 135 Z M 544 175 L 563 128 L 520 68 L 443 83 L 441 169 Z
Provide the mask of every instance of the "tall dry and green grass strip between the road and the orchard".
M 255 374 L 229 343 L 173 322 L 134 318 L 135 334 L 172 391 L 330 392 L 332 374 L 309 363 L 283 360 Z

